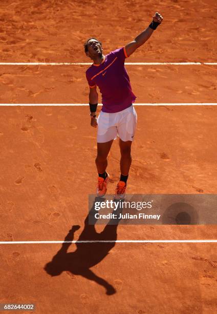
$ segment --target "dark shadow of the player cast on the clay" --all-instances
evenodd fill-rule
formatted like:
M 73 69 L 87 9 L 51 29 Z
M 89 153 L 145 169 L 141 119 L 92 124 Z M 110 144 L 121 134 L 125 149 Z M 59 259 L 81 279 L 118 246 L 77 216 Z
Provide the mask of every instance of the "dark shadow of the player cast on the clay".
M 95 202 L 103 202 L 104 199 L 95 198 Z M 92 222 L 96 224 L 94 219 L 94 204 L 89 212 L 92 215 Z M 120 203 L 119 203 L 120 204 Z M 121 206 L 114 213 L 119 217 L 122 211 Z M 103 278 L 97 276 L 90 268 L 100 263 L 115 246 L 117 240 L 117 227 L 120 220 L 111 219 L 100 233 L 96 232 L 95 225 L 89 225 L 89 215 L 84 221 L 84 229 L 80 234 L 78 241 L 103 241 L 110 240 L 114 242 L 97 242 L 97 243 L 76 243 L 77 249 L 74 252 L 67 252 L 71 243 L 63 243 L 61 249 L 53 257 L 52 261 L 47 263 L 45 270 L 51 276 L 58 276 L 62 271 L 68 271 L 72 274 L 82 276 L 86 279 L 93 280 L 106 289 L 107 295 L 113 295 L 116 290 Z M 114 224 L 115 223 L 115 224 Z M 67 234 L 64 241 L 73 241 L 74 233 L 80 226 L 73 226 Z

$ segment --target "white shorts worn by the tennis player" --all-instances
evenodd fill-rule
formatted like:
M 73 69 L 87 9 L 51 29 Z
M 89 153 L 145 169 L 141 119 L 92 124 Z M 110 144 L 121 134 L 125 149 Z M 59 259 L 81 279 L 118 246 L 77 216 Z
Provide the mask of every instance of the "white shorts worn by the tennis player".
M 115 113 L 101 111 L 97 118 L 97 124 L 97 143 L 115 140 L 117 136 L 124 142 L 133 141 L 137 113 L 133 105 Z

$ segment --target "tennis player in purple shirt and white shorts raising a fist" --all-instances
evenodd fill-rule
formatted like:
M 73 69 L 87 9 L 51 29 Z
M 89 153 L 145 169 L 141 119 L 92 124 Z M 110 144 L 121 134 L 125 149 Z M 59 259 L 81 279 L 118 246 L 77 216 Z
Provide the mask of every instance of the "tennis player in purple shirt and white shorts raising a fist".
M 98 183 L 96 194 L 103 197 L 107 190 L 109 174 L 106 172 L 107 155 L 113 141 L 119 137 L 121 152 L 120 181 L 115 190 L 115 199 L 124 199 L 129 168 L 132 163 L 131 145 L 137 123 L 137 114 L 133 106 L 136 100 L 129 76 L 124 67 L 125 58 L 142 46 L 162 23 L 163 17 L 155 13 L 153 21 L 135 40 L 126 46 L 116 49 L 107 55 L 103 54 L 102 44 L 94 37 L 84 43 L 84 50 L 93 60 L 92 66 L 86 70 L 86 79 L 90 87 L 89 104 L 91 126 L 97 127 Z M 102 109 L 97 118 L 98 105 L 97 86 L 102 94 Z

